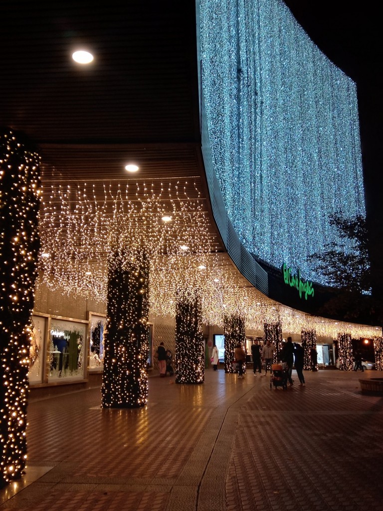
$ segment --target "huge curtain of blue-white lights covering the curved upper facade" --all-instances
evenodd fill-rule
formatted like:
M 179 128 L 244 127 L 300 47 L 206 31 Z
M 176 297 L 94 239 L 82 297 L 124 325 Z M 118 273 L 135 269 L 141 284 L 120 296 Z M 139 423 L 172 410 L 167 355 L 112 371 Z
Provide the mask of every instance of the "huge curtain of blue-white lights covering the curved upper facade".
M 308 256 L 337 239 L 329 216 L 365 215 L 355 84 L 280 0 L 200 0 L 200 20 L 213 166 L 236 233 L 326 284 Z

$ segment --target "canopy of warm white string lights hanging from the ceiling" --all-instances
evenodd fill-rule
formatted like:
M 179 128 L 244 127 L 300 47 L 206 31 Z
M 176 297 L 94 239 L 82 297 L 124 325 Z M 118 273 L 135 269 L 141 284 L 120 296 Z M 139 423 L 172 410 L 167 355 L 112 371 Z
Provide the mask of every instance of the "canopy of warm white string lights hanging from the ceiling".
M 250 330 L 263 331 L 265 322 L 280 321 L 283 332 L 307 328 L 333 339 L 344 331 L 354 338 L 381 333 L 374 327 L 308 316 L 255 288 L 238 287 L 235 270 L 222 265 L 214 250 L 201 204 L 187 197 L 181 200 L 179 183 L 104 185 L 102 199 L 94 187 L 84 183 L 45 190 L 40 232 L 42 253 L 50 257 L 40 258 L 40 283 L 52 290 L 106 301 L 108 253 L 123 251 L 131 262 L 139 262 L 145 248 L 150 313 L 155 316 L 175 317 L 177 290 L 182 287 L 199 289 L 203 321 L 221 328 L 225 309 L 225 314 L 244 317 Z M 171 207 L 163 201 L 165 189 Z M 164 216 L 172 216 L 172 221 L 164 222 Z M 199 269 L 202 266 L 206 268 Z

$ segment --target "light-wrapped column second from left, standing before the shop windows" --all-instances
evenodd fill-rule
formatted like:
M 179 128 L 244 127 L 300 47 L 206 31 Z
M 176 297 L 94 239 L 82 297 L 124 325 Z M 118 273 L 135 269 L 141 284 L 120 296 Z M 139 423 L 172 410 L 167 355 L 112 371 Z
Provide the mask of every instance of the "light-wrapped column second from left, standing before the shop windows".
M 103 408 L 136 408 L 148 400 L 149 265 L 120 254 L 108 259 Z

